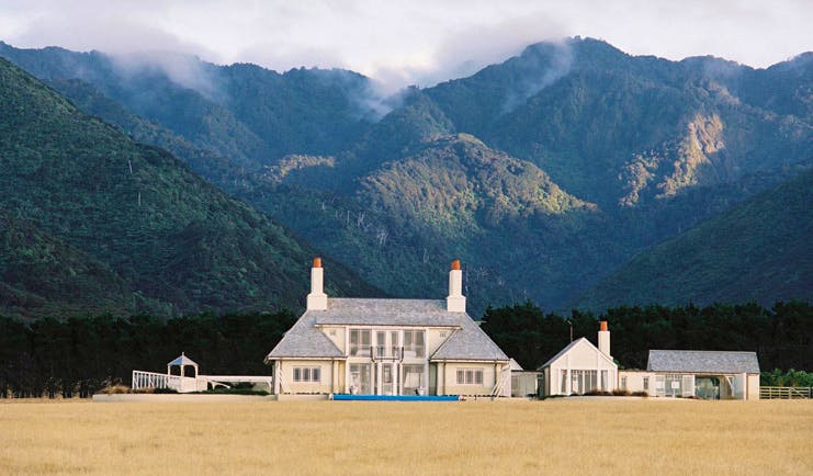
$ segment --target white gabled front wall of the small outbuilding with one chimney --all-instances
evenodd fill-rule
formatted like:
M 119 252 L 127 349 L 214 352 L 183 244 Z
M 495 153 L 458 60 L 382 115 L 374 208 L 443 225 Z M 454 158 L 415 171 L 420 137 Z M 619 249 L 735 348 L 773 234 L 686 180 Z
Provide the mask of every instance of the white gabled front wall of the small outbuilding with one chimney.
M 609 356 L 600 352 L 589 341 L 583 340 L 560 355 L 549 367 L 550 373 L 545 375 L 550 393 L 546 395 L 571 395 L 572 388 L 571 371 L 596 371 L 597 386 L 601 389 L 601 372 L 607 371 L 607 392 L 612 392 L 618 385 L 618 365 Z M 567 371 L 565 392 L 562 392 L 562 371 Z

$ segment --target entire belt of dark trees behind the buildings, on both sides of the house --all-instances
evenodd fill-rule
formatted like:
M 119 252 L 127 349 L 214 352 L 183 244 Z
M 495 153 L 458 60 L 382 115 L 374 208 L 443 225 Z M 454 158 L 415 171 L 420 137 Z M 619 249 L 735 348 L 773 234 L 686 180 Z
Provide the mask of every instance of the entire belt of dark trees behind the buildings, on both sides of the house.
M 612 355 L 645 367 L 650 349 L 756 351 L 769 384 L 808 385 L 813 369 L 813 308 L 806 303 L 705 307 L 616 307 L 602 314 L 544 313 L 532 303 L 489 307 L 482 327 L 524 369 L 537 369 L 569 342 L 596 341 L 598 320 L 612 332 Z M 162 372 L 181 352 L 208 374 L 269 375 L 263 358 L 296 316 L 202 314 L 22 320 L 0 317 L 0 397 L 88 397 L 129 384 L 133 370 Z M 781 371 L 775 372 L 774 369 Z

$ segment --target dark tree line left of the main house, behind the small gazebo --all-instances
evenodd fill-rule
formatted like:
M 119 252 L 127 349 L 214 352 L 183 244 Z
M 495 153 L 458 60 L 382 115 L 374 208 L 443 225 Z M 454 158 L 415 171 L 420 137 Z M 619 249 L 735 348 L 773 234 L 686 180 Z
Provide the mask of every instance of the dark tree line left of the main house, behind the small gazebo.
M 0 317 L 0 397 L 89 397 L 129 385 L 133 370 L 163 373 L 181 352 L 214 375 L 270 375 L 263 359 L 296 316 L 202 314 L 43 318 Z

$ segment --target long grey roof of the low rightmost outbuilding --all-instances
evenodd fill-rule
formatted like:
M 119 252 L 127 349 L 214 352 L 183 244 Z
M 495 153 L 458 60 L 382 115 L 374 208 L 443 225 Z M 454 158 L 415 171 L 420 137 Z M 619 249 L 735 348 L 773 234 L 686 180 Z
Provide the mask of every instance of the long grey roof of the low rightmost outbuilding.
M 647 371 L 720 374 L 758 374 L 756 352 L 651 350 Z

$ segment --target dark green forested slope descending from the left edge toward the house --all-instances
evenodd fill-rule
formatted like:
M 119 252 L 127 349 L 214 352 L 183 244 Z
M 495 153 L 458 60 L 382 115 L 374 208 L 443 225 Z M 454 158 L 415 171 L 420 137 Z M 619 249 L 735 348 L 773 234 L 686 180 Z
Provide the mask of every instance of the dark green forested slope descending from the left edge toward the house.
M 0 309 L 296 307 L 315 251 L 0 59 Z M 374 294 L 331 263 L 328 287 Z

